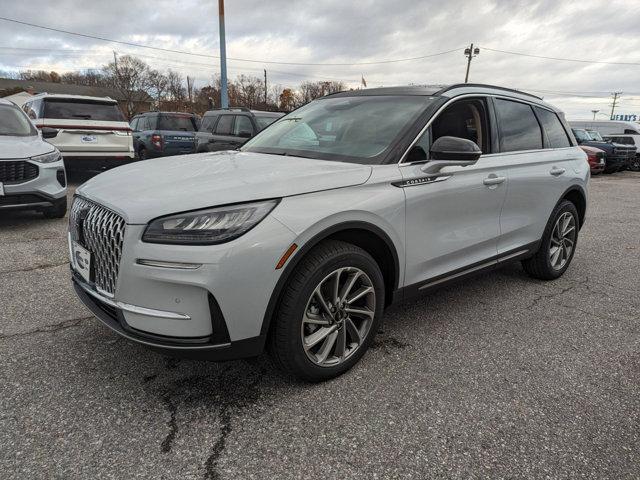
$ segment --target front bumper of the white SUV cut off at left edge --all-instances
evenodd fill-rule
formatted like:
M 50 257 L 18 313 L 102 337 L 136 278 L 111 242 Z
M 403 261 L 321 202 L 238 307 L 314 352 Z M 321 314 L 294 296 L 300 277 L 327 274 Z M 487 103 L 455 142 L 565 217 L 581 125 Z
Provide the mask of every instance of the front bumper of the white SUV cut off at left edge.
M 31 163 L 38 166 L 38 176 L 26 182 L 5 183 L 4 195 L 0 196 L 0 210 L 49 208 L 66 197 L 66 177 L 62 160 L 53 163 Z

